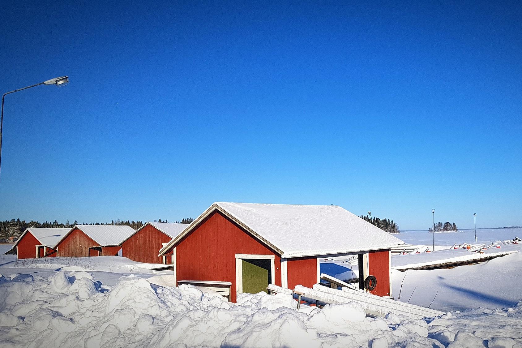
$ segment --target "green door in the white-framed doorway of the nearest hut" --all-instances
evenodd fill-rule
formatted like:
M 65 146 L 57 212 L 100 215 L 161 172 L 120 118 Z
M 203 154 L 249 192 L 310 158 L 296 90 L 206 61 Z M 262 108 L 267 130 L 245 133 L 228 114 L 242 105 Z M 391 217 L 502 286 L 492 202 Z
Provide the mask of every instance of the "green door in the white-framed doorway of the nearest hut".
M 243 259 L 243 292 L 256 294 L 264 291 L 272 279 L 271 262 L 266 259 Z

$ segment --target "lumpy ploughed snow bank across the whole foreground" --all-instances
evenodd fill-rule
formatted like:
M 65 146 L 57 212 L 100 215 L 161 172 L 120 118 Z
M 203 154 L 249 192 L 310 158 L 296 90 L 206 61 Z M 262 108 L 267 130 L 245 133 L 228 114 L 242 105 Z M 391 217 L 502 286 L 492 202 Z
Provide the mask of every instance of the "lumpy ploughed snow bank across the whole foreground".
M 112 288 L 88 272 L 0 276 L 0 347 L 442 348 L 522 342 L 519 306 L 447 314 L 429 323 L 366 318 L 353 301 L 295 308 L 288 294 L 242 294 L 232 304 L 191 285 L 154 289 L 135 276 L 121 277 Z

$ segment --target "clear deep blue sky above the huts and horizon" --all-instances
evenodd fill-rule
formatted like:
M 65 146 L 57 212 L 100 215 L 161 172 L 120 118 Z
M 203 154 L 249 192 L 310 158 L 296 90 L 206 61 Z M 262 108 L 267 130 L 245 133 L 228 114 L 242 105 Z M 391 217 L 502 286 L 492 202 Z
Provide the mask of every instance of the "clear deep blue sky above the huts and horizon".
M 0 219 L 522 225 L 520 2 L 3 4 Z

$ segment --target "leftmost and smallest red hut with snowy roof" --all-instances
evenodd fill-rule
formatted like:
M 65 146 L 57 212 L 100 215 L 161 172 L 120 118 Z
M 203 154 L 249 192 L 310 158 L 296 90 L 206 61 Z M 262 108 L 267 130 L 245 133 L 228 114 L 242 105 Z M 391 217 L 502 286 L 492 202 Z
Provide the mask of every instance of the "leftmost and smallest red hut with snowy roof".
M 56 256 L 54 245 L 68 231 L 69 228 L 26 228 L 13 248 L 5 254 L 16 254 L 17 259 L 54 257 Z

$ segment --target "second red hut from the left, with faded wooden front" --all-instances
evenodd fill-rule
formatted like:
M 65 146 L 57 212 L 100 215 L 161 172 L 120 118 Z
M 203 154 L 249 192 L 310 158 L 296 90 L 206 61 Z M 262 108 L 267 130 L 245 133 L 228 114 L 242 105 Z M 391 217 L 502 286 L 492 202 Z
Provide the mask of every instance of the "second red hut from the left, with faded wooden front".
M 120 243 L 135 230 L 130 226 L 76 225 L 56 243 L 57 256 L 116 256 Z

